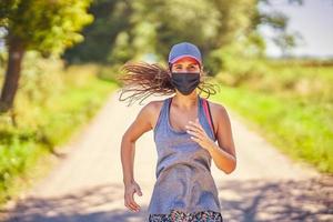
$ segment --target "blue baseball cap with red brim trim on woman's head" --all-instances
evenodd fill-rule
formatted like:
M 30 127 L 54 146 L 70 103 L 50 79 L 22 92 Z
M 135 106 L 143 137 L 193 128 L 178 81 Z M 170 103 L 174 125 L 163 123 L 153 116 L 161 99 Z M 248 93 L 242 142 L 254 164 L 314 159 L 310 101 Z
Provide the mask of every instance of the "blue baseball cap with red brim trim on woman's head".
M 185 57 L 195 59 L 200 65 L 202 64 L 201 52 L 199 48 L 190 42 L 181 42 L 171 48 L 169 53 L 169 65 Z

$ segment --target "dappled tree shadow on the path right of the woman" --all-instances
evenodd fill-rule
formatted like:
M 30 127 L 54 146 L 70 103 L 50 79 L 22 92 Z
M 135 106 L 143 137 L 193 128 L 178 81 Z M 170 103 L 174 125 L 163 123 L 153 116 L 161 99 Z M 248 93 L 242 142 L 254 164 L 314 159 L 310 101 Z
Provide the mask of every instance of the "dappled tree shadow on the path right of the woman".
M 218 185 L 226 221 L 333 221 L 333 178 L 225 181 Z

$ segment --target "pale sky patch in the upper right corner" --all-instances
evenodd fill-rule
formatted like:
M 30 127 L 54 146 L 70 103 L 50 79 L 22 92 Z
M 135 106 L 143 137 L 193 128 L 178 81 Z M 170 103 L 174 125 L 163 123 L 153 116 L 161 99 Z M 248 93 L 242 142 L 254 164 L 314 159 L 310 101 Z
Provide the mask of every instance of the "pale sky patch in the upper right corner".
M 287 30 L 297 31 L 302 36 L 301 46 L 293 49 L 292 54 L 333 57 L 333 0 L 303 0 L 302 6 L 287 4 L 285 0 L 273 2 L 273 9 L 289 17 Z M 263 27 L 261 31 L 265 37 L 272 34 L 266 27 Z M 266 43 L 268 56 L 281 56 L 280 49 L 271 41 L 268 40 Z

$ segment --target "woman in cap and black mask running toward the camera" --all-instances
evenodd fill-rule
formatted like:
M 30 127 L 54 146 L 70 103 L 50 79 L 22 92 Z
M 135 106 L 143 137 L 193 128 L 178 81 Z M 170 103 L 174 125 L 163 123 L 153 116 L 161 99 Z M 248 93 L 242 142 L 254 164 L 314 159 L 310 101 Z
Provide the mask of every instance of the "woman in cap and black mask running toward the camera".
M 133 178 L 135 141 L 153 130 L 158 165 L 149 221 L 222 221 L 218 189 L 210 171 L 211 159 L 229 174 L 236 167 L 235 148 L 225 108 L 208 102 L 196 92 L 199 88 L 200 93 L 215 93 L 212 84 L 203 81 L 200 50 L 192 43 L 181 42 L 169 53 L 169 69 L 127 63 L 123 70 L 122 94 L 135 92 L 129 97 L 131 101 L 153 93 L 174 93 L 144 105 L 122 137 L 124 205 L 134 212 L 140 210 L 133 199 L 134 193 L 142 195 Z

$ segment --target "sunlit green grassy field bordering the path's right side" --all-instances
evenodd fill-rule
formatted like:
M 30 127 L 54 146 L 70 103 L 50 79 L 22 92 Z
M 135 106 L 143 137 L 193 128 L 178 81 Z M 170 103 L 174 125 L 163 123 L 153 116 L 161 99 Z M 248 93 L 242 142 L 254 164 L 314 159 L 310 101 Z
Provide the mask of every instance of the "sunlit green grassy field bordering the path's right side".
M 216 99 L 285 153 L 332 173 L 332 61 L 224 58 L 216 79 L 229 87 Z

